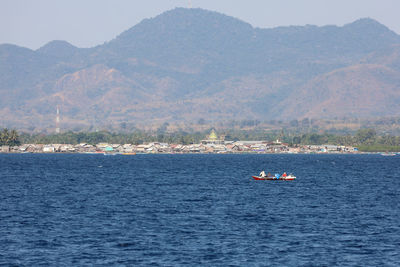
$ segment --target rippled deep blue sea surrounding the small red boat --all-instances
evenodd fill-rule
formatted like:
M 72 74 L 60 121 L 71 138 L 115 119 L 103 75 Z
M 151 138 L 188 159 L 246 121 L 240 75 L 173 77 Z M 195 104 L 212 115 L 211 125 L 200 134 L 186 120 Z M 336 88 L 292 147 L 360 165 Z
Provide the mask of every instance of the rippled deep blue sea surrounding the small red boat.
M 0 265 L 400 265 L 400 155 L 0 154 L 0 183 Z

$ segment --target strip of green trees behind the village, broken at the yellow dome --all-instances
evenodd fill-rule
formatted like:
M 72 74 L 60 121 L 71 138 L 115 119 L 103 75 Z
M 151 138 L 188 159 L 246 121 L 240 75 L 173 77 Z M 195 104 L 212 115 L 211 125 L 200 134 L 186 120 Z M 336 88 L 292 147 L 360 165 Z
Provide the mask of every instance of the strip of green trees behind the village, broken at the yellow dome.
M 61 134 L 19 134 L 16 130 L 4 128 L 0 132 L 0 145 L 15 146 L 23 144 L 142 144 L 146 142 L 163 142 L 176 144 L 198 144 L 206 139 L 209 130 L 203 132 L 166 132 L 160 128 L 155 132 L 136 130 L 131 133 L 99 132 L 65 132 Z M 220 133 L 221 134 L 221 133 Z M 267 132 L 264 130 L 225 130 L 225 140 L 229 141 L 263 141 L 277 140 L 289 145 L 344 145 L 355 146 L 360 151 L 400 151 L 400 136 L 378 135 L 374 129 L 360 129 L 354 135 L 330 133 L 297 134 L 284 130 Z

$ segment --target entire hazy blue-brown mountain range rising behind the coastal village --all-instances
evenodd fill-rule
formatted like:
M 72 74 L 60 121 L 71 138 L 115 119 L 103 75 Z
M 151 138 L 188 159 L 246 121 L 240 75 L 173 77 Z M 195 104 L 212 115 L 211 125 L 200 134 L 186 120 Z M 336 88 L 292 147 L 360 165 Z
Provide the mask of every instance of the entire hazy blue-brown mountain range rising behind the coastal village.
M 101 30 L 101 29 L 99 29 Z M 373 19 L 273 29 L 177 8 L 102 45 L 0 45 L 0 125 L 400 116 L 400 36 Z

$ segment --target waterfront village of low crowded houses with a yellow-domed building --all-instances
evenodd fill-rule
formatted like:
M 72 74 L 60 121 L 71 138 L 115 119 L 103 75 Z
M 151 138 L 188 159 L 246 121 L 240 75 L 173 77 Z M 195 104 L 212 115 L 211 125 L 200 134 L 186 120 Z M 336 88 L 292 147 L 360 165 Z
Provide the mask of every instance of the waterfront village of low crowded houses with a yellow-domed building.
M 23 144 L 2 146 L 2 153 L 102 153 L 106 155 L 123 154 L 178 154 L 178 153 L 358 153 L 355 147 L 336 145 L 289 146 L 276 141 L 228 141 L 218 136 L 215 130 L 200 144 L 168 144 L 151 142 L 145 144 Z

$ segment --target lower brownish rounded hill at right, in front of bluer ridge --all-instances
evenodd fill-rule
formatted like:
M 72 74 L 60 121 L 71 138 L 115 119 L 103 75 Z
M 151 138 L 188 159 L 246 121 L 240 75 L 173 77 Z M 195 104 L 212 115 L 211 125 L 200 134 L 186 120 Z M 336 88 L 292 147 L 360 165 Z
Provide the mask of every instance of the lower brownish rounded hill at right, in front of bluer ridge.
M 307 82 L 285 102 L 285 118 L 380 117 L 399 114 L 399 72 L 382 65 L 359 64 L 337 69 Z M 295 97 L 296 96 L 296 97 Z M 293 101 L 295 98 L 295 101 Z M 304 103 L 312 103 L 305 105 Z

